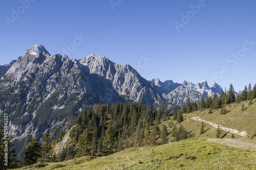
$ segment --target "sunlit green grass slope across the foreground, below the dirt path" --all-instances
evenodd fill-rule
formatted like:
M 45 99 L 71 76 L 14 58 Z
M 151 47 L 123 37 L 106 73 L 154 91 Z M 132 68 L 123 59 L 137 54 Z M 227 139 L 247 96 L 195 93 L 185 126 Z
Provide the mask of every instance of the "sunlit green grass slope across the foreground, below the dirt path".
M 21 169 L 256 169 L 256 153 L 203 138 L 127 149 L 105 157 L 80 157 Z

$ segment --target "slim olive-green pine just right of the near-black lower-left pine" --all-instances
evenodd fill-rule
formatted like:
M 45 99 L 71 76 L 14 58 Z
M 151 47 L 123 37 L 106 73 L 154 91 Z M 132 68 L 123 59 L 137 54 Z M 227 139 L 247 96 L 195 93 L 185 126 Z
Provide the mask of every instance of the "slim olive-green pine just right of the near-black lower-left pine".
M 51 139 L 48 133 L 45 134 L 41 141 L 41 157 L 40 162 L 46 163 L 51 161 Z

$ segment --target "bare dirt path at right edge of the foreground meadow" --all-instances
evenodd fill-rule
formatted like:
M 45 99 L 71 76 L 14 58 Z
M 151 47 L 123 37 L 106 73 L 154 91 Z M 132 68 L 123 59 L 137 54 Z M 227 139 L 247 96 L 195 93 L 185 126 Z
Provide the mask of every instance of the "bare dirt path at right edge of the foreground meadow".
M 251 151 L 256 151 L 256 144 L 253 143 L 253 142 L 243 141 L 243 140 L 239 140 L 239 139 L 226 139 L 226 138 L 223 138 L 223 139 L 207 139 L 207 140 L 227 144 L 230 147 L 238 147 L 238 148 L 248 149 L 248 150 L 251 150 Z

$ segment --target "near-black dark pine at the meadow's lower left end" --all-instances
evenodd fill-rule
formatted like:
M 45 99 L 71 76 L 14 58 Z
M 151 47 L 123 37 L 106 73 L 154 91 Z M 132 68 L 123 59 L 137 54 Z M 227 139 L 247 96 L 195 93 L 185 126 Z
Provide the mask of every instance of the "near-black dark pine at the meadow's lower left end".
M 33 138 L 30 141 L 28 151 L 25 152 L 25 157 L 23 158 L 25 160 L 25 165 L 32 165 L 34 163 L 37 163 L 37 160 L 40 157 L 41 152 L 41 146 L 38 144 L 35 138 Z

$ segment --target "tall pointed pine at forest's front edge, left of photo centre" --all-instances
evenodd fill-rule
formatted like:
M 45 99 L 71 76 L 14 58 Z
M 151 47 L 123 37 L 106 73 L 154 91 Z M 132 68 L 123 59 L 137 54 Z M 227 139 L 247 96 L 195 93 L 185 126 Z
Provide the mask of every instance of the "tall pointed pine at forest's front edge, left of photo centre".
M 105 137 L 102 142 L 104 155 L 110 155 L 115 152 L 115 132 L 113 127 L 109 124 L 108 129 L 105 132 Z

